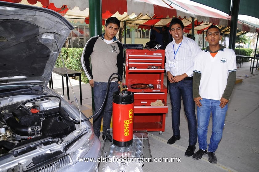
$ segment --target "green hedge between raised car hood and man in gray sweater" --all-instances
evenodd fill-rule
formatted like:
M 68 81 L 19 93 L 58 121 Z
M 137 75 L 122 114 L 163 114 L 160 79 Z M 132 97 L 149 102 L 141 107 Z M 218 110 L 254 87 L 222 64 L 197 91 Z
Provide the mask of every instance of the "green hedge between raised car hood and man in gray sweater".
M 81 64 L 82 53 L 83 53 L 83 48 L 69 48 L 69 49 L 62 48 L 61 49 L 62 58 L 64 59 L 66 68 L 71 70 L 76 70 L 78 72 L 82 72 L 81 74 L 82 82 L 88 83 L 89 81 L 86 77 L 86 74 Z M 63 67 L 63 62 L 60 55 L 58 56 L 55 67 Z M 74 77 L 74 79 L 78 80 L 79 77 Z

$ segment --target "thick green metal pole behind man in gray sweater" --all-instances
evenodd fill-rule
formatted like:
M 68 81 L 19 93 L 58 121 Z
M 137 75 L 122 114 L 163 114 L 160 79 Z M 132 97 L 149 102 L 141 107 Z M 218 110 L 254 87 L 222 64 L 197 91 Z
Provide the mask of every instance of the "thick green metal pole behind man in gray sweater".
M 90 37 L 102 34 L 102 0 L 89 0 Z M 94 108 L 94 88 L 92 88 L 92 109 Z

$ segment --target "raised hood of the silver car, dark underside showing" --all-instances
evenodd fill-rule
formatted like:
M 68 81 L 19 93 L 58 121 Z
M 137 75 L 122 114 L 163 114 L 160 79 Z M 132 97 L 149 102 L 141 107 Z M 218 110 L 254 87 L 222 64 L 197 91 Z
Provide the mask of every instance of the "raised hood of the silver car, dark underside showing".
M 55 11 L 0 2 L 0 87 L 46 87 L 72 29 Z

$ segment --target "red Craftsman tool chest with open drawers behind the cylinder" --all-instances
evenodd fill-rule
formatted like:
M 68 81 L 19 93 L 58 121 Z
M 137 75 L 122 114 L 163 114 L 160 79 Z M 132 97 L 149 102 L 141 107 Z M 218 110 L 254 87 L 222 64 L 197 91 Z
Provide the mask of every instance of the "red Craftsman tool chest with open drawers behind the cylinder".
M 134 92 L 134 130 L 165 131 L 167 88 L 164 80 L 165 50 L 126 50 L 125 85 Z M 152 84 L 153 88 L 132 88 Z M 161 100 L 164 106 L 150 106 Z

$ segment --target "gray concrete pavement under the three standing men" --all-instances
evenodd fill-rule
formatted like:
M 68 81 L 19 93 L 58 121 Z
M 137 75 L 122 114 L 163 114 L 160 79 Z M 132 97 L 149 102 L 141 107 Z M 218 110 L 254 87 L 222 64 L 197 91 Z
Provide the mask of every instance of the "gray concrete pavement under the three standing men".
M 208 155 L 200 160 L 185 157 L 184 153 L 188 147 L 187 120 L 181 109 L 181 139 L 173 145 L 168 145 L 167 140 L 173 135 L 171 127 L 171 103 L 167 96 L 168 114 L 165 120 L 165 132 L 148 132 L 152 158 L 180 158 L 180 162 L 145 162 L 143 171 L 259 171 L 259 71 L 254 69 L 253 75 L 250 70 L 251 62 L 244 62 L 237 69 L 237 78 L 242 79 L 234 86 L 229 101 L 229 109 L 225 119 L 223 137 L 215 152 L 218 163 L 208 162 Z M 246 76 L 248 75 L 248 76 Z M 54 90 L 62 94 L 61 76 L 53 74 Z M 164 79 L 166 85 L 166 76 Z M 80 106 L 79 82 L 71 80 L 73 90 L 78 99 L 81 111 L 91 115 L 92 96 L 89 84 L 82 83 L 83 105 Z M 65 84 L 66 86 L 66 84 Z M 65 88 L 66 97 L 66 88 Z M 74 96 L 70 88 L 70 100 L 75 104 Z M 208 130 L 208 143 L 211 134 L 212 123 L 210 120 Z M 101 140 L 102 141 L 102 140 Z M 103 144 L 103 141 L 102 141 Z M 196 144 L 196 151 L 198 143 Z M 100 163 L 99 171 L 102 171 Z

